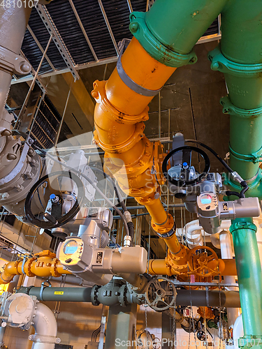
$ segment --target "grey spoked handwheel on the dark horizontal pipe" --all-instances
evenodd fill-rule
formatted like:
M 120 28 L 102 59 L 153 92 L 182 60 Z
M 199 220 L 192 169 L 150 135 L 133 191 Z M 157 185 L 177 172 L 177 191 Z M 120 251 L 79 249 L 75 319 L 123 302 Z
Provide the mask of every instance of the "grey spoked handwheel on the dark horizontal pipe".
M 145 291 L 145 300 L 154 311 L 165 311 L 173 307 L 176 297 L 175 285 L 163 277 L 152 279 Z

